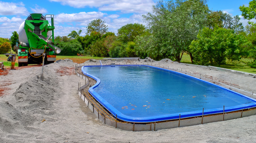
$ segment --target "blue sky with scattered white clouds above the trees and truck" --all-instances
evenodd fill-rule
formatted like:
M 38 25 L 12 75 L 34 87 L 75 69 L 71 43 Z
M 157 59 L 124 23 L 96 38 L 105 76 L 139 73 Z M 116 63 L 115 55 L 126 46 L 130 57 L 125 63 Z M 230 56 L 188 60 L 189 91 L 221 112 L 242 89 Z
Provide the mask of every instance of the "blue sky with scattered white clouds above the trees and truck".
M 167 0 L 164 0 L 167 1 Z M 239 6 L 248 6 L 251 0 L 208 0 L 210 10 L 222 10 L 231 16 L 241 15 Z M 157 0 L 0 0 L 0 37 L 10 38 L 13 31 L 30 13 L 54 14 L 54 35 L 67 36 L 73 30 L 82 30 L 93 19 L 105 20 L 108 30 L 117 29 L 129 23 L 143 23 L 141 15 L 152 12 Z M 241 17 L 246 25 L 247 20 Z M 146 24 L 145 24 L 146 25 Z

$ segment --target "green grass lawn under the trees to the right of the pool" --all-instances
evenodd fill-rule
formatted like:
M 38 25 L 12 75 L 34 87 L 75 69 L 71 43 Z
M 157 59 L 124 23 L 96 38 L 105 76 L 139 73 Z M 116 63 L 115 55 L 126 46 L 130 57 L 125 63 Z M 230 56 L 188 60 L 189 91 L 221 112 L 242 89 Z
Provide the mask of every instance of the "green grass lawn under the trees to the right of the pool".
M 220 65 L 220 66 L 213 65 L 213 66 L 230 69 L 230 70 L 235 70 L 235 71 L 243 71 L 243 72 L 256 74 L 256 69 L 250 68 L 245 64 L 249 60 L 251 60 L 251 59 L 242 58 L 240 61 L 233 61 L 233 62 L 227 60 L 225 65 Z M 190 56 L 187 55 L 186 53 L 184 53 L 181 58 L 181 63 L 192 64 L 191 60 L 190 60 Z

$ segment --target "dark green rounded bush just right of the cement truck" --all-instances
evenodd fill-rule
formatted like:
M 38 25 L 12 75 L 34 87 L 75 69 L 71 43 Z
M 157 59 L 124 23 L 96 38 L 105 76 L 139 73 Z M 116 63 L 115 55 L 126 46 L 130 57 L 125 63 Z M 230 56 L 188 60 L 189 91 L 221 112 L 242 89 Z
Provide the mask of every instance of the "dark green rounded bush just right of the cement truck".
M 59 55 L 75 56 L 77 53 L 83 53 L 82 45 L 76 39 L 68 42 L 58 41 L 56 46 L 61 49 Z

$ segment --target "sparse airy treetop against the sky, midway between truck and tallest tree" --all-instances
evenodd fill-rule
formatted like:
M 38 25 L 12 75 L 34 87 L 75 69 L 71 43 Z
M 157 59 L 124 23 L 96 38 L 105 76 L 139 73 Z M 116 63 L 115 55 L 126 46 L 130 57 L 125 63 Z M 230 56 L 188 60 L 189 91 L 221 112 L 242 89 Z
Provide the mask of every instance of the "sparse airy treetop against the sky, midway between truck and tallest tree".
M 95 19 L 91 21 L 87 25 L 87 33 L 86 34 L 91 34 L 92 32 L 98 32 L 100 35 L 105 34 L 108 31 L 108 25 L 105 25 L 105 21 L 102 21 L 101 19 Z

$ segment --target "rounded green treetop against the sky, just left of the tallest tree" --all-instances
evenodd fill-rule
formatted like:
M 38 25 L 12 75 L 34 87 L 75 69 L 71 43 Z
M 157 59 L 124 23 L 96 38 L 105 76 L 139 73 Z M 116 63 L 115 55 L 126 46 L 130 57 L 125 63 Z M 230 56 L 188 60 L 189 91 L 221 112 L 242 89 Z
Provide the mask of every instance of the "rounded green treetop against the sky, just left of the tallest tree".
M 143 24 L 126 24 L 117 30 L 117 36 L 119 40 L 124 43 L 128 41 L 134 41 L 136 36 L 143 34 L 146 31 L 146 27 Z

